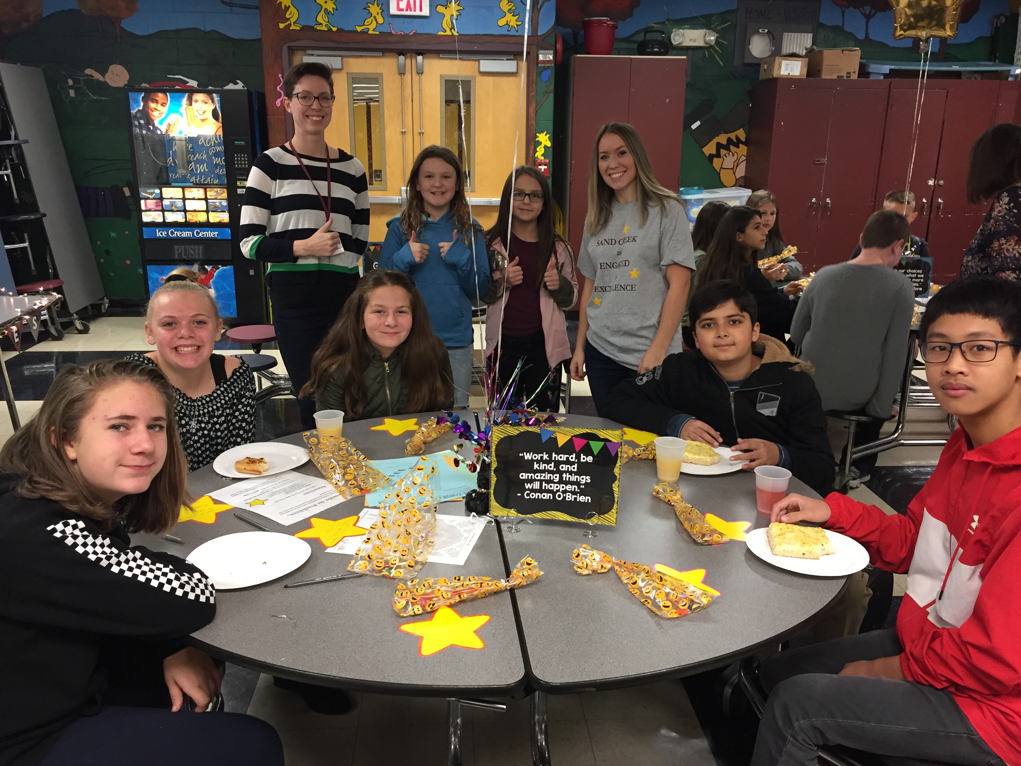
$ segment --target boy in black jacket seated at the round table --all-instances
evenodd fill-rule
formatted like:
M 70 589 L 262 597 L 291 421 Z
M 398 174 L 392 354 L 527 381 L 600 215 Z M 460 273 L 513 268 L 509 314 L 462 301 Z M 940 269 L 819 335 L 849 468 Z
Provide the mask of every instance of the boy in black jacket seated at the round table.
M 731 445 L 741 466 L 782 466 L 818 492 L 833 484 L 826 416 L 807 367 L 760 336 L 756 300 L 736 282 L 691 296 L 697 351 L 674 353 L 615 388 L 603 417 L 633 428 Z

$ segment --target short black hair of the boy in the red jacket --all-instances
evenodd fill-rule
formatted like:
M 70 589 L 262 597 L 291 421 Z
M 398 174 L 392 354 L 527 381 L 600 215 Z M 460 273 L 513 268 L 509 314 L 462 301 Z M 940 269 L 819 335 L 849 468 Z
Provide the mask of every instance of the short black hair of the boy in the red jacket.
M 995 320 L 1012 343 L 1021 342 L 1021 284 L 990 276 L 951 282 L 933 295 L 925 307 L 919 328 L 923 341 L 932 323 L 947 314 L 973 314 Z M 1013 347 L 1015 356 L 1019 350 Z

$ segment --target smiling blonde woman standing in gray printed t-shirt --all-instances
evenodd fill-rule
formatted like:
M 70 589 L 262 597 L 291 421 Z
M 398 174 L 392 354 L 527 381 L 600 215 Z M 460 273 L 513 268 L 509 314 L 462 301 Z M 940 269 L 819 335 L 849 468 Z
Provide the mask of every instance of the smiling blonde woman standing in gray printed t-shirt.
M 571 377 L 588 376 L 596 413 L 623 380 L 681 350 L 681 317 L 695 268 L 681 201 L 661 186 L 630 125 L 599 129 L 588 174 L 588 214 Z

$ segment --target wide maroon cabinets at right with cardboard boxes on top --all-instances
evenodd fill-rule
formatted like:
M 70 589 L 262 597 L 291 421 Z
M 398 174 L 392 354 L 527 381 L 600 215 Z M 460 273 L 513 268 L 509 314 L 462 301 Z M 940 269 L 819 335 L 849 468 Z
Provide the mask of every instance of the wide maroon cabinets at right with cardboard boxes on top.
M 914 144 L 916 80 L 768 80 L 752 89 L 746 186 L 780 200 L 783 232 L 818 269 L 845 260 L 883 196 L 911 166 L 934 279 L 945 284 L 986 206 L 965 200 L 968 151 L 990 125 L 1014 118 L 1018 83 L 929 80 Z

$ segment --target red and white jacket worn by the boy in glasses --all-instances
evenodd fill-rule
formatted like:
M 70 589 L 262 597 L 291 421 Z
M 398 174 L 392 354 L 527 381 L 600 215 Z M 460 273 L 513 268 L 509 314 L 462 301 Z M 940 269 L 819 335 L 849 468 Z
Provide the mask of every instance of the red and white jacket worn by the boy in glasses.
M 1010 766 L 1021 766 L 1021 428 L 972 447 L 958 428 L 906 516 L 842 494 L 826 527 L 907 572 L 896 618 L 905 678 L 946 689 Z

